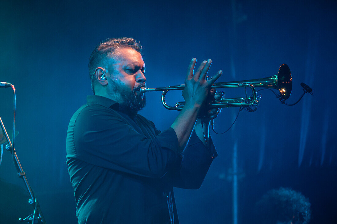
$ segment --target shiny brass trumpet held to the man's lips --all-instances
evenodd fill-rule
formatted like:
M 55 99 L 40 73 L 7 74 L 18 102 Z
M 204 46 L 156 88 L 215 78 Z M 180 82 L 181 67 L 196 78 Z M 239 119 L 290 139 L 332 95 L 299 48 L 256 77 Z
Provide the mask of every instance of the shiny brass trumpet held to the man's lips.
M 292 74 L 289 67 L 286 64 L 282 64 L 276 75 L 260 78 L 260 79 L 249 79 L 242 81 L 232 81 L 232 82 L 218 82 L 213 83 L 211 88 L 250 88 L 252 90 L 252 96 L 246 98 L 221 98 L 219 101 L 213 100 L 209 102 L 210 107 L 216 108 L 226 108 L 226 107 L 244 107 L 249 105 L 258 105 L 260 101 L 260 96 L 257 95 L 255 87 L 265 87 L 274 88 L 279 91 L 279 97 L 281 100 L 286 100 L 290 97 L 292 93 Z M 151 92 L 151 91 L 162 91 L 161 103 L 168 110 L 182 110 L 185 102 L 178 102 L 174 106 L 168 106 L 165 102 L 165 96 L 168 91 L 171 90 L 182 90 L 185 87 L 182 85 L 174 85 L 168 87 L 157 87 L 157 88 L 145 88 L 140 89 L 141 93 Z

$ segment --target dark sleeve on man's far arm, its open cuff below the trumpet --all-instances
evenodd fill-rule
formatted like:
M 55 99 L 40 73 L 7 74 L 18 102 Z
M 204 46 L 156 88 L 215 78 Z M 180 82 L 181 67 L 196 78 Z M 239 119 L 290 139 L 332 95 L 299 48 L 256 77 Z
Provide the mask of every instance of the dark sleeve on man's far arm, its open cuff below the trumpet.
M 176 173 L 168 173 L 168 180 L 174 187 L 198 189 L 201 187 L 213 159 L 218 155 L 212 138 L 210 137 L 208 147 L 206 147 L 193 130 L 182 154 L 181 169 Z

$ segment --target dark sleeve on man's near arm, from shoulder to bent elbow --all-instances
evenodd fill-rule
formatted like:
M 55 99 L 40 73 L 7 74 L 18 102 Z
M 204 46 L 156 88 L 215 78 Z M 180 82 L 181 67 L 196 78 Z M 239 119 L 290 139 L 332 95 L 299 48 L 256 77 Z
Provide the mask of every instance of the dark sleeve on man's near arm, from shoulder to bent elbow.
M 67 142 L 73 143 L 67 145 L 68 158 L 115 171 L 159 178 L 182 163 L 172 128 L 148 139 L 117 112 L 103 106 L 88 106 L 73 117 L 67 136 Z

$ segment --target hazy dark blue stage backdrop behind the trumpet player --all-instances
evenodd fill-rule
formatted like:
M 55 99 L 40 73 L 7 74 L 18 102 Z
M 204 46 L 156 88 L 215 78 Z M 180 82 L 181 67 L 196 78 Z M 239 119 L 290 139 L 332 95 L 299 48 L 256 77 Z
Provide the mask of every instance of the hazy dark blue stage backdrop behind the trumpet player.
M 182 84 L 191 58 L 212 59 L 219 82 L 277 73 L 293 75 L 293 103 L 301 82 L 314 96 L 288 107 L 270 91 L 254 113 L 243 111 L 229 132 L 212 134 L 219 153 L 198 190 L 176 189 L 181 223 L 231 223 L 233 148 L 240 169 L 239 223 L 249 223 L 254 203 L 272 188 L 292 187 L 312 204 L 311 223 L 337 220 L 335 1 L 8 1 L 0 9 L 0 81 L 17 89 L 16 149 L 49 223 L 75 223 L 75 200 L 65 164 L 71 115 L 92 94 L 88 59 L 108 37 L 133 37 L 144 47 L 148 87 Z M 225 89 L 228 97 L 243 90 Z M 160 93 L 147 93 L 140 113 L 158 129 L 178 112 L 165 110 Z M 1 89 L 0 115 L 12 129 L 12 91 Z M 168 102 L 181 99 L 170 93 Z M 238 108 L 224 109 L 218 132 Z M 10 153 L 0 177 L 24 186 Z M 15 206 L 15 201 L 13 205 Z M 29 214 L 22 214 L 27 216 Z

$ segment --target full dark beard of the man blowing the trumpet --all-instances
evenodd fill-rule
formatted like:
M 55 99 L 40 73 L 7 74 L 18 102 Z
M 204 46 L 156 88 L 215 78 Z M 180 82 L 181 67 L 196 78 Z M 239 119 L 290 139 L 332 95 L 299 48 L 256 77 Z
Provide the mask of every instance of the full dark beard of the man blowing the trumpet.
M 146 87 L 145 83 L 133 88 L 132 91 L 118 79 L 111 79 L 111 85 L 113 94 L 117 94 L 121 98 L 119 106 L 122 110 L 136 113 L 145 107 L 146 97 L 139 92 L 140 88 Z

